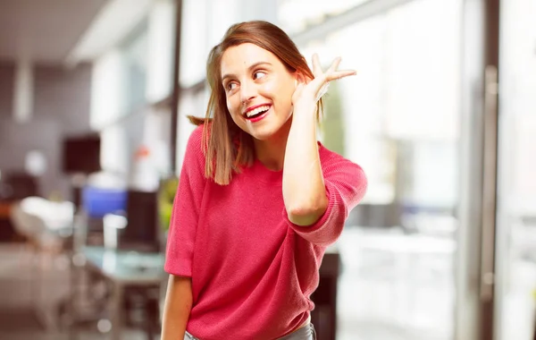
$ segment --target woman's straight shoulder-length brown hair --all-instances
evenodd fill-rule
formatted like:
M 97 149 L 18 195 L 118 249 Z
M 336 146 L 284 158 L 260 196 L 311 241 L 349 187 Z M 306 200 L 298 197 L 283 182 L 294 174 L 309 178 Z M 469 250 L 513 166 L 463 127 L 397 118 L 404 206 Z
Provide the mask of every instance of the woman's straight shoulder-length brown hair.
M 188 116 L 191 123 L 205 123 L 203 149 L 205 151 L 205 176 L 214 182 L 230 183 L 232 172 L 240 172 L 241 166 L 251 166 L 255 160 L 253 138 L 243 132 L 232 120 L 227 109 L 227 99 L 222 85 L 222 55 L 229 47 L 250 43 L 272 52 L 289 72 L 300 72 L 309 79 L 314 75 L 306 58 L 299 53 L 294 42 L 279 27 L 267 21 L 247 21 L 232 25 L 222 42 L 211 50 L 206 63 L 206 78 L 211 95 L 205 118 Z M 322 99 L 316 107 L 316 119 L 320 121 Z M 212 115 L 212 118 L 211 118 Z

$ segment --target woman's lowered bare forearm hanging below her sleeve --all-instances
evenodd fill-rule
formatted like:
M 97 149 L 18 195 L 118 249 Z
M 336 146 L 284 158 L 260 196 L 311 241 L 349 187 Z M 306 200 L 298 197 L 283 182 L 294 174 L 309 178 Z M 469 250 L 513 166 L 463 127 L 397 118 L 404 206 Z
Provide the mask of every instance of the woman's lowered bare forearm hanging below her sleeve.
M 182 340 L 192 308 L 192 281 L 170 275 L 163 307 L 162 340 Z

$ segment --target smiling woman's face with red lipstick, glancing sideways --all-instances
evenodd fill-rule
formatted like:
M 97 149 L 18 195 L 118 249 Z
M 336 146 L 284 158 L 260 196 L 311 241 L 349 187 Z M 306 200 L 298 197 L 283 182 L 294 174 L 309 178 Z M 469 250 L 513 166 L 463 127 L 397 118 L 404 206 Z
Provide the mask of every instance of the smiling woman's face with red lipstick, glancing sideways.
M 295 73 L 255 44 L 222 55 L 222 85 L 232 120 L 256 140 L 269 140 L 292 115 Z

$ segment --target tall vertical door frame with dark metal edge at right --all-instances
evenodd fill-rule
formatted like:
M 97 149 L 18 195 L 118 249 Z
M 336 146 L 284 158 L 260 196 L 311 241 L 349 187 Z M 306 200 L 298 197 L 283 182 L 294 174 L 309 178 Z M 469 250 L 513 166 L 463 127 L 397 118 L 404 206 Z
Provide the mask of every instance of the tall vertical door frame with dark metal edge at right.
M 499 0 L 463 0 L 456 340 L 494 338 Z

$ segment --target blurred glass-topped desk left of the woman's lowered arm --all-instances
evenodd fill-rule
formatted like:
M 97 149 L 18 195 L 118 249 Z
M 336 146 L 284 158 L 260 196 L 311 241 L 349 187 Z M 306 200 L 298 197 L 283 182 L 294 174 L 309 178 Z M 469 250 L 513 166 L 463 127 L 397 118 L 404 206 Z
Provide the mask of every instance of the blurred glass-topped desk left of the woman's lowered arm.
M 168 275 L 163 271 L 163 253 L 113 251 L 103 247 L 83 247 L 85 268 L 103 276 L 113 285 L 111 301 L 113 340 L 121 339 L 122 301 L 125 286 L 159 286 Z

